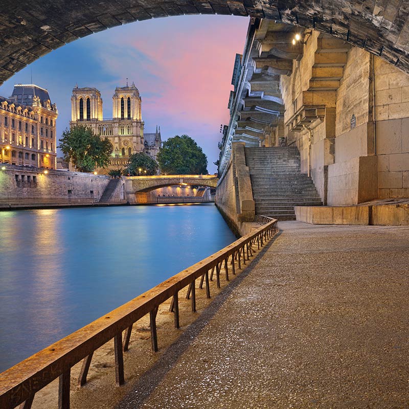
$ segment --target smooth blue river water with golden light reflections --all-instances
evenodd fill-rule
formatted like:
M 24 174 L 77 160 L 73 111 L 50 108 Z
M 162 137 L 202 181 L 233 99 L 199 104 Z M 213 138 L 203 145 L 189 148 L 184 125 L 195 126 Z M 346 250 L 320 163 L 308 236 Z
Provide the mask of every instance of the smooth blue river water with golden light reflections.
M 0 212 L 0 372 L 234 240 L 213 203 Z

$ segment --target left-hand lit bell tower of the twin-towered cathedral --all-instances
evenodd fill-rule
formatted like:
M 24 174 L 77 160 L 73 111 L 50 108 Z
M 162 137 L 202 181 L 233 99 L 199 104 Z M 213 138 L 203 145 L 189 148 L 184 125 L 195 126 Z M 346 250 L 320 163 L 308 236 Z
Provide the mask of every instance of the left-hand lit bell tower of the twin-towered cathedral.
M 102 98 L 97 88 L 78 88 L 76 85 L 71 97 L 71 120 L 102 120 Z

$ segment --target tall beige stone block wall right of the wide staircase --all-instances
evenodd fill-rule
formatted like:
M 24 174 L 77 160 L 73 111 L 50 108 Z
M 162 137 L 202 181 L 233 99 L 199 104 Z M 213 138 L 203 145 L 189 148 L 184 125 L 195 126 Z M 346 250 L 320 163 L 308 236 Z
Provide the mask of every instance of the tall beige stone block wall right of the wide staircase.
M 291 76 L 281 76 L 285 123 L 307 105 L 308 93 L 314 105 L 326 106 L 324 119 L 310 125 L 310 169 L 317 191 L 328 205 L 409 197 L 409 76 L 353 47 L 336 91 L 317 92 L 309 80 L 319 38 L 313 32 L 303 58 L 293 62 Z M 287 141 L 300 150 L 304 173 L 308 136 L 307 130 L 290 132 L 286 127 Z

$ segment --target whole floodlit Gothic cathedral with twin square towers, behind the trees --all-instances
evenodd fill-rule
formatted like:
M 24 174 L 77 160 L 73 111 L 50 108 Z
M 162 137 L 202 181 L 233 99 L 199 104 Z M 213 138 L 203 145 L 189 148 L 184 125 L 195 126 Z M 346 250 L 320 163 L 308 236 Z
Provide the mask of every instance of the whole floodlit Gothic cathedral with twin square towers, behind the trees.
M 132 85 L 116 87 L 112 96 L 112 118 L 102 117 L 102 98 L 97 88 L 73 89 L 70 126 L 89 125 L 101 137 L 107 137 L 113 146 L 107 169 L 126 168 L 132 153 L 145 152 L 156 160 L 162 145 L 161 128 L 144 134 L 142 99 L 138 88 Z

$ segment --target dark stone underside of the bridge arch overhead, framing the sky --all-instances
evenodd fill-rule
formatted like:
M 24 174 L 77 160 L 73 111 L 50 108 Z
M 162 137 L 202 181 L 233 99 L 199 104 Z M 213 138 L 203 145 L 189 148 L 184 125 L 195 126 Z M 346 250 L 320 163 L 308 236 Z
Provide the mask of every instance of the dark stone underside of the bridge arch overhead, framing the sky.
M 409 1 L 88 0 L 0 4 L 0 85 L 64 44 L 133 21 L 183 14 L 282 20 L 342 38 L 409 73 Z

